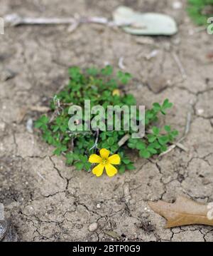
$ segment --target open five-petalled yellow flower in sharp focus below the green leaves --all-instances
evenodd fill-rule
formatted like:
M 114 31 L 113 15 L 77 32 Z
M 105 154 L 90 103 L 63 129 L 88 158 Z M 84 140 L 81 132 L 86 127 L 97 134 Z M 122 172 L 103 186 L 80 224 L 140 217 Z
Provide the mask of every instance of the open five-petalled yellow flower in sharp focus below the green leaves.
M 113 165 L 120 164 L 120 156 L 118 154 L 109 156 L 110 152 L 106 148 L 102 148 L 99 153 L 101 156 L 96 154 L 89 156 L 89 163 L 98 163 L 98 165 L 92 169 L 92 173 L 99 177 L 102 175 L 105 168 L 109 177 L 114 176 L 118 170 Z

